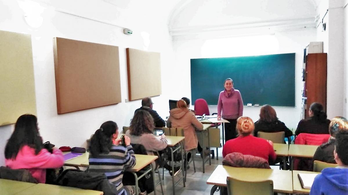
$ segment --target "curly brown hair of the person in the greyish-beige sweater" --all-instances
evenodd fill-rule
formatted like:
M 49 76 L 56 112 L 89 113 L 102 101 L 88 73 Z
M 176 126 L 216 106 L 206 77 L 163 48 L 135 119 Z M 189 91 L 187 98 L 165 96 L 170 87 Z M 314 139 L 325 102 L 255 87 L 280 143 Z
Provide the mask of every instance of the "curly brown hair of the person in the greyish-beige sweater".
M 139 110 L 130 121 L 130 135 L 140 136 L 144 133 L 153 133 L 155 124 L 150 113 L 146 110 Z

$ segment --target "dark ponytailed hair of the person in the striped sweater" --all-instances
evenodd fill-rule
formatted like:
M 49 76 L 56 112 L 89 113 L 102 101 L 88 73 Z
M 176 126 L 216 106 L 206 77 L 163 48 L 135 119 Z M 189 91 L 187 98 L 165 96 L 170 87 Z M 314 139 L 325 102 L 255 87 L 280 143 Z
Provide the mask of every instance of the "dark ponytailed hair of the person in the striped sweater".
M 114 121 L 106 121 L 100 129 L 96 130 L 92 138 L 90 139 L 89 152 L 93 157 L 98 156 L 101 153 L 109 154 L 112 146 L 112 134 L 116 133 L 118 127 Z

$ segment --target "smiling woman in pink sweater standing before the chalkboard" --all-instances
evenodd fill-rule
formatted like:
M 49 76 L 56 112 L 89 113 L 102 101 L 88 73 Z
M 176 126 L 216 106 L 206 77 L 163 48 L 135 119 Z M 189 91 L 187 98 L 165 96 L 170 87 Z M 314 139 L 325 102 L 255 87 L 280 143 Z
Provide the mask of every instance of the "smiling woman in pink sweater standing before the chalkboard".
M 236 125 L 238 117 L 243 115 L 243 100 L 239 90 L 233 88 L 233 80 L 228 78 L 223 85 L 225 90 L 220 92 L 219 101 L 217 102 L 217 120 L 228 120 L 225 123 L 225 140 L 237 137 Z M 222 113 L 221 113 L 222 111 Z

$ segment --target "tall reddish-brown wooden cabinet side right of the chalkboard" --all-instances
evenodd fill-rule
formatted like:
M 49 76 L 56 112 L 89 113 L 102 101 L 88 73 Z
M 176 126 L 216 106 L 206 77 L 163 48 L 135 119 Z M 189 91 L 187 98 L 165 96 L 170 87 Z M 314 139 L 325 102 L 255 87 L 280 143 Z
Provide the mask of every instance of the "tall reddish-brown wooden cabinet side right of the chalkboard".
M 304 107 L 305 116 L 307 116 L 309 106 L 313 102 L 323 104 L 326 112 L 326 62 L 327 53 L 309 53 L 306 56 L 304 94 L 307 96 L 307 107 Z

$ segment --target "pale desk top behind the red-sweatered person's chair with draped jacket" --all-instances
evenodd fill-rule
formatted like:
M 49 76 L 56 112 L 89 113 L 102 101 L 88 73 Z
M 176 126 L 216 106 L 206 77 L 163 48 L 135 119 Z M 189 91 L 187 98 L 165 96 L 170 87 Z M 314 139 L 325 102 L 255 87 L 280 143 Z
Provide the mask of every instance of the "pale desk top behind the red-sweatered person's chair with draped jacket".
M 243 181 L 273 181 L 274 192 L 293 193 L 292 172 L 288 170 L 240 168 L 218 165 L 207 180 L 207 184 L 227 186 L 227 177 Z

